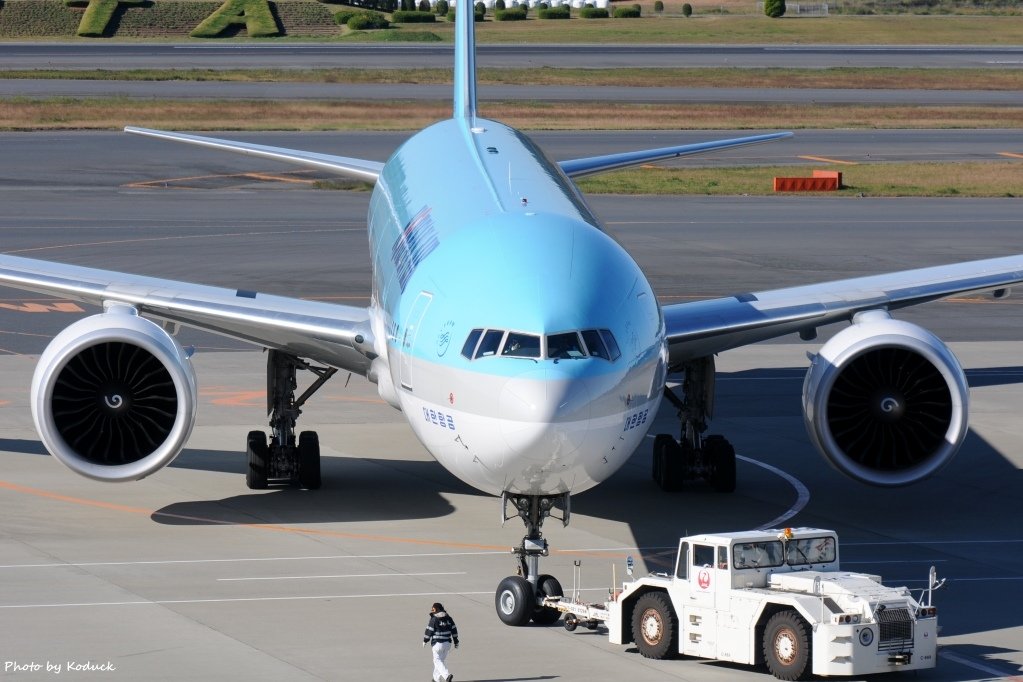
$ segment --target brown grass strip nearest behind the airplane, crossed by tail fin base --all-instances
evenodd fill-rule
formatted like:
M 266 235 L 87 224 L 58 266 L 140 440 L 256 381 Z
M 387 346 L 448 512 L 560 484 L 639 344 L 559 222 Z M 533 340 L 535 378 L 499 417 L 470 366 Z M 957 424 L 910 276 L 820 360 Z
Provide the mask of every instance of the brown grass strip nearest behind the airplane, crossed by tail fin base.
M 1023 128 L 1023 108 L 1013 106 L 488 101 L 481 108 L 526 130 Z M 418 130 L 450 116 L 446 101 L 0 100 L 0 130 Z

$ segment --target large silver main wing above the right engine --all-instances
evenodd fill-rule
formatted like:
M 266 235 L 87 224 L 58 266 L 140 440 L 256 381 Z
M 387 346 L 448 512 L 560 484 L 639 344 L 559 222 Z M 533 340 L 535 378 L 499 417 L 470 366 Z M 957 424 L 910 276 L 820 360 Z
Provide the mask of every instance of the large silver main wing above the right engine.
M 664 307 L 672 365 L 728 349 L 809 332 L 865 310 L 897 310 L 1023 282 L 1023 256 L 971 261 L 821 284 L 739 293 Z

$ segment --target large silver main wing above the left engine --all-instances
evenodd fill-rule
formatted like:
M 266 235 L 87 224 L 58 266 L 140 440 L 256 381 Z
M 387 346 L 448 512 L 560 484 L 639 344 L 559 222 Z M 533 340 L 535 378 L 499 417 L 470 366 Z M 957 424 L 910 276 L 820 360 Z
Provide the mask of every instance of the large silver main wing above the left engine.
M 139 314 L 365 374 L 369 310 L 0 255 L 0 285 Z

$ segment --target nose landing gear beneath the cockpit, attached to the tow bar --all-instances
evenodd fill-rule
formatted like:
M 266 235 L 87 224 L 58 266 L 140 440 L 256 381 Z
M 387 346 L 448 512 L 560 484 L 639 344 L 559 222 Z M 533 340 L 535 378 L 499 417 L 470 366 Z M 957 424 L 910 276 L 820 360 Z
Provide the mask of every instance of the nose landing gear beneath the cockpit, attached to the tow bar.
M 516 511 L 510 516 L 507 515 L 509 502 Z M 505 625 L 523 626 L 530 621 L 537 625 L 552 625 L 562 616 L 557 608 L 541 605 L 544 597 L 565 594 L 557 578 L 540 573 L 540 557 L 550 553 L 540 527 L 555 509 L 561 509 L 561 520 L 568 526 L 571 515 L 568 493 L 552 496 L 501 495 L 501 521 L 519 516 L 526 525 L 522 544 L 511 550 L 519 560 L 517 575 L 502 580 L 494 595 L 497 617 Z

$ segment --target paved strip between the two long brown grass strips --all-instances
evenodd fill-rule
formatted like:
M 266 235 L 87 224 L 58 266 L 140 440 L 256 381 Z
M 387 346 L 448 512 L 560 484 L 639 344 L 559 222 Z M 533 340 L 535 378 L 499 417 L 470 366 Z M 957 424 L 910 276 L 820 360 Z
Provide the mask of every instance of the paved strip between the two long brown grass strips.
M 448 100 L 449 85 L 0 80 L 0 97 Z M 483 85 L 487 100 L 1023 106 L 1023 91 Z

